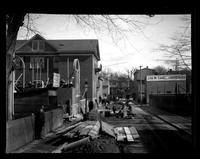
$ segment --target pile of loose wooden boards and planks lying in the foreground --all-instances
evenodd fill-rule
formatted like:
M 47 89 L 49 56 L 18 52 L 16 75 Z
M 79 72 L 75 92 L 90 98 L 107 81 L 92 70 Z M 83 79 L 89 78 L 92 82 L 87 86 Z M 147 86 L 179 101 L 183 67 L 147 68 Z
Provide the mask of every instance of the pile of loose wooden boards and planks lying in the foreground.
M 138 132 L 134 127 L 114 127 L 103 121 L 85 121 L 76 123 L 60 131 L 66 142 L 52 153 L 61 153 L 98 139 L 101 133 L 107 134 L 117 142 L 135 142 Z

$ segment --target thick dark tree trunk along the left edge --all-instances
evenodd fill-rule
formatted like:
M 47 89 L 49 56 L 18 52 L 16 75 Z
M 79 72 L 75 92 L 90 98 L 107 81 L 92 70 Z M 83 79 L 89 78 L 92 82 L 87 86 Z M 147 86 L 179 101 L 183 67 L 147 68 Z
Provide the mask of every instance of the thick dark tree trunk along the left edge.
M 6 118 L 12 120 L 14 108 L 14 71 L 12 61 L 15 52 L 17 33 L 23 25 L 26 13 L 9 13 L 6 15 Z

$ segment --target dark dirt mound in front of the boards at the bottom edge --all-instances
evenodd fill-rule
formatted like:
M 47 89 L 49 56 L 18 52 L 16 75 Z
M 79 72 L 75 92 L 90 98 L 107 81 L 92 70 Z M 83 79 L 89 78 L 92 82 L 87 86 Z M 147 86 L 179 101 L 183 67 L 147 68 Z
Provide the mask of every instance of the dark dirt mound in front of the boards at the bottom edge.
M 63 153 L 121 153 L 116 140 L 108 135 L 101 134 L 84 145 Z

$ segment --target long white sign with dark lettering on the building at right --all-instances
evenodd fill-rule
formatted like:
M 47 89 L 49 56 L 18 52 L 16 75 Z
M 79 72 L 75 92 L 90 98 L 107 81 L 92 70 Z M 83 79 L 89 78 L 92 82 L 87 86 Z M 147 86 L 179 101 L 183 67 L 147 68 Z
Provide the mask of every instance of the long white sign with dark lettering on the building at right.
M 185 81 L 186 75 L 149 75 L 147 81 Z

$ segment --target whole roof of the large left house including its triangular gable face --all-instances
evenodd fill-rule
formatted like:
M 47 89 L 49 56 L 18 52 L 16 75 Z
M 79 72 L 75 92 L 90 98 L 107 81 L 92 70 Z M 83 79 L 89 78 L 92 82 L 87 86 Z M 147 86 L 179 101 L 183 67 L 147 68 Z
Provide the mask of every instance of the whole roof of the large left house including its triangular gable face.
M 44 49 L 33 51 L 33 41 L 43 41 Z M 36 47 L 37 48 L 37 47 Z M 61 53 L 61 54 L 94 54 L 97 60 L 100 60 L 99 44 L 97 39 L 73 39 L 73 40 L 46 40 L 39 34 L 36 34 L 29 40 L 17 40 L 17 53 Z

